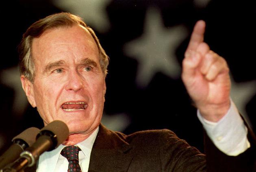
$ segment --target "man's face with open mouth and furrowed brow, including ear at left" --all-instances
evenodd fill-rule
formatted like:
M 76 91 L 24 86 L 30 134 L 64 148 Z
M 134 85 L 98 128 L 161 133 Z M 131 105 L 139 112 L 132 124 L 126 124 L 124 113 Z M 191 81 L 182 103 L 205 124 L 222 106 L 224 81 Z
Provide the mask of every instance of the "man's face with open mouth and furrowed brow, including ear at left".
M 106 84 L 88 30 L 81 26 L 47 30 L 33 39 L 32 54 L 35 80 L 22 85 L 44 124 L 61 120 L 69 133 L 92 132 L 102 117 Z

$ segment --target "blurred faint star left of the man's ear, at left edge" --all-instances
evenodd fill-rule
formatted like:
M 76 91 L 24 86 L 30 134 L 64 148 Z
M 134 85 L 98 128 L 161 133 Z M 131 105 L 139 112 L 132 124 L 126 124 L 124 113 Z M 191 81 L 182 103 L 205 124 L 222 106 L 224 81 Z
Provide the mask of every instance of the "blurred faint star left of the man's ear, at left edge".
M 21 117 L 28 105 L 28 101 L 20 82 L 19 66 L 3 70 L 1 72 L 1 83 L 14 90 L 13 114 L 16 117 Z

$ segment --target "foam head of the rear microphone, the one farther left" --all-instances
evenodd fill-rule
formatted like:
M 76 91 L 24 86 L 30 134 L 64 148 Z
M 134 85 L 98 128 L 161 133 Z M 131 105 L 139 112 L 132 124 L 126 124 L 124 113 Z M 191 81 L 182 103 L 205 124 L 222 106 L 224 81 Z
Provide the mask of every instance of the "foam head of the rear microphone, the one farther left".
M 26 144 L 28 144 L 27 146 L 30 147 L 36 140 L 36 136 L 39 133 L 39 129 L 36 127 L 30 127 L 26 130 L 24 130 L 22 133 L 20 133 L 19 135 L 15 136 L 12 139 L 12 142 L 16 142 L 19 140 L 25 141 Z

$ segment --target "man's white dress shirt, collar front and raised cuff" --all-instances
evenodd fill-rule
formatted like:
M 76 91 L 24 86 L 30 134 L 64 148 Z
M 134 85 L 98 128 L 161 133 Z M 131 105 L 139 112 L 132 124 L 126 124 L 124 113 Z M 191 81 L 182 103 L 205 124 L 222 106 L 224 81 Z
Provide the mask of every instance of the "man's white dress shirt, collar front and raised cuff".
M 247 128 L 233 102 L 228 113 L 217 123 L 204 119 L 200 115 L 199 110 L 197 110 L 197 117 L 216 147 L 227 155 L 238 155 L 250 147 L 249 141 L 247 140 Z M 79 151 L 78 155 L 82 172 L 88 172 L 91 149 L 98 130 L 99 127 L 89 138 L 76 144 L 82 150 Z M 68 161 L 61 155 L 63 147 L 65 146 L 61 144 L 53 151 L 43 153 L 39 157 L 37 172 L 66 172 Z

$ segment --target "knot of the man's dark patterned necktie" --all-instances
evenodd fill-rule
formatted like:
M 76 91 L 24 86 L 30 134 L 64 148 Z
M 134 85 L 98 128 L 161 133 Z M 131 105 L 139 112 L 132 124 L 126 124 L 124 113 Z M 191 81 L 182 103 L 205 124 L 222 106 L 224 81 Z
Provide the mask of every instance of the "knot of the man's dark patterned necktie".
M 67 158 L 67 161 L 78 161 L 78 152 L 81 151 L 79 147 L 67 146 L 61 151 L 61 155 Z

